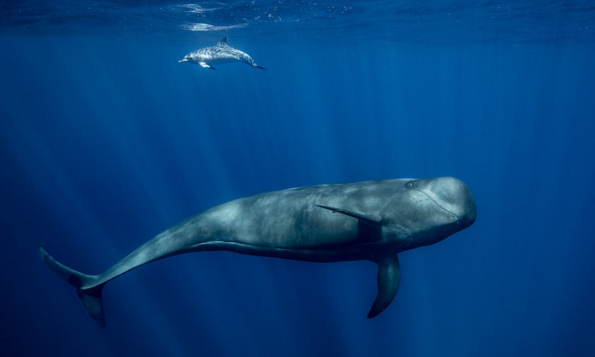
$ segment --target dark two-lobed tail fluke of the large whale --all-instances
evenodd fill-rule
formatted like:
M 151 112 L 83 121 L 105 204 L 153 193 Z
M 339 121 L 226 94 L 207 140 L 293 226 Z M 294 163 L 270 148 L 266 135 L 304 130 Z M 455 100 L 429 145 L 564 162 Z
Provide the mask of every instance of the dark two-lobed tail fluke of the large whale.
M 104 288 L 105 282 L 93 284 L 99 280 L 99 275 L 79 273 L 57 262 L 43 248 L 39 248 L 38 251 L 45 265 L 58 275 L 58 277 L 76 289 L 76 294 L 79 296 L 80 302 L 83 303 L 85 311 L 87 311 L 87 314 L 89 314 L 93 321 L 99 327 L 105 327 L 104 308 L 101 302 L 101 290 Z

